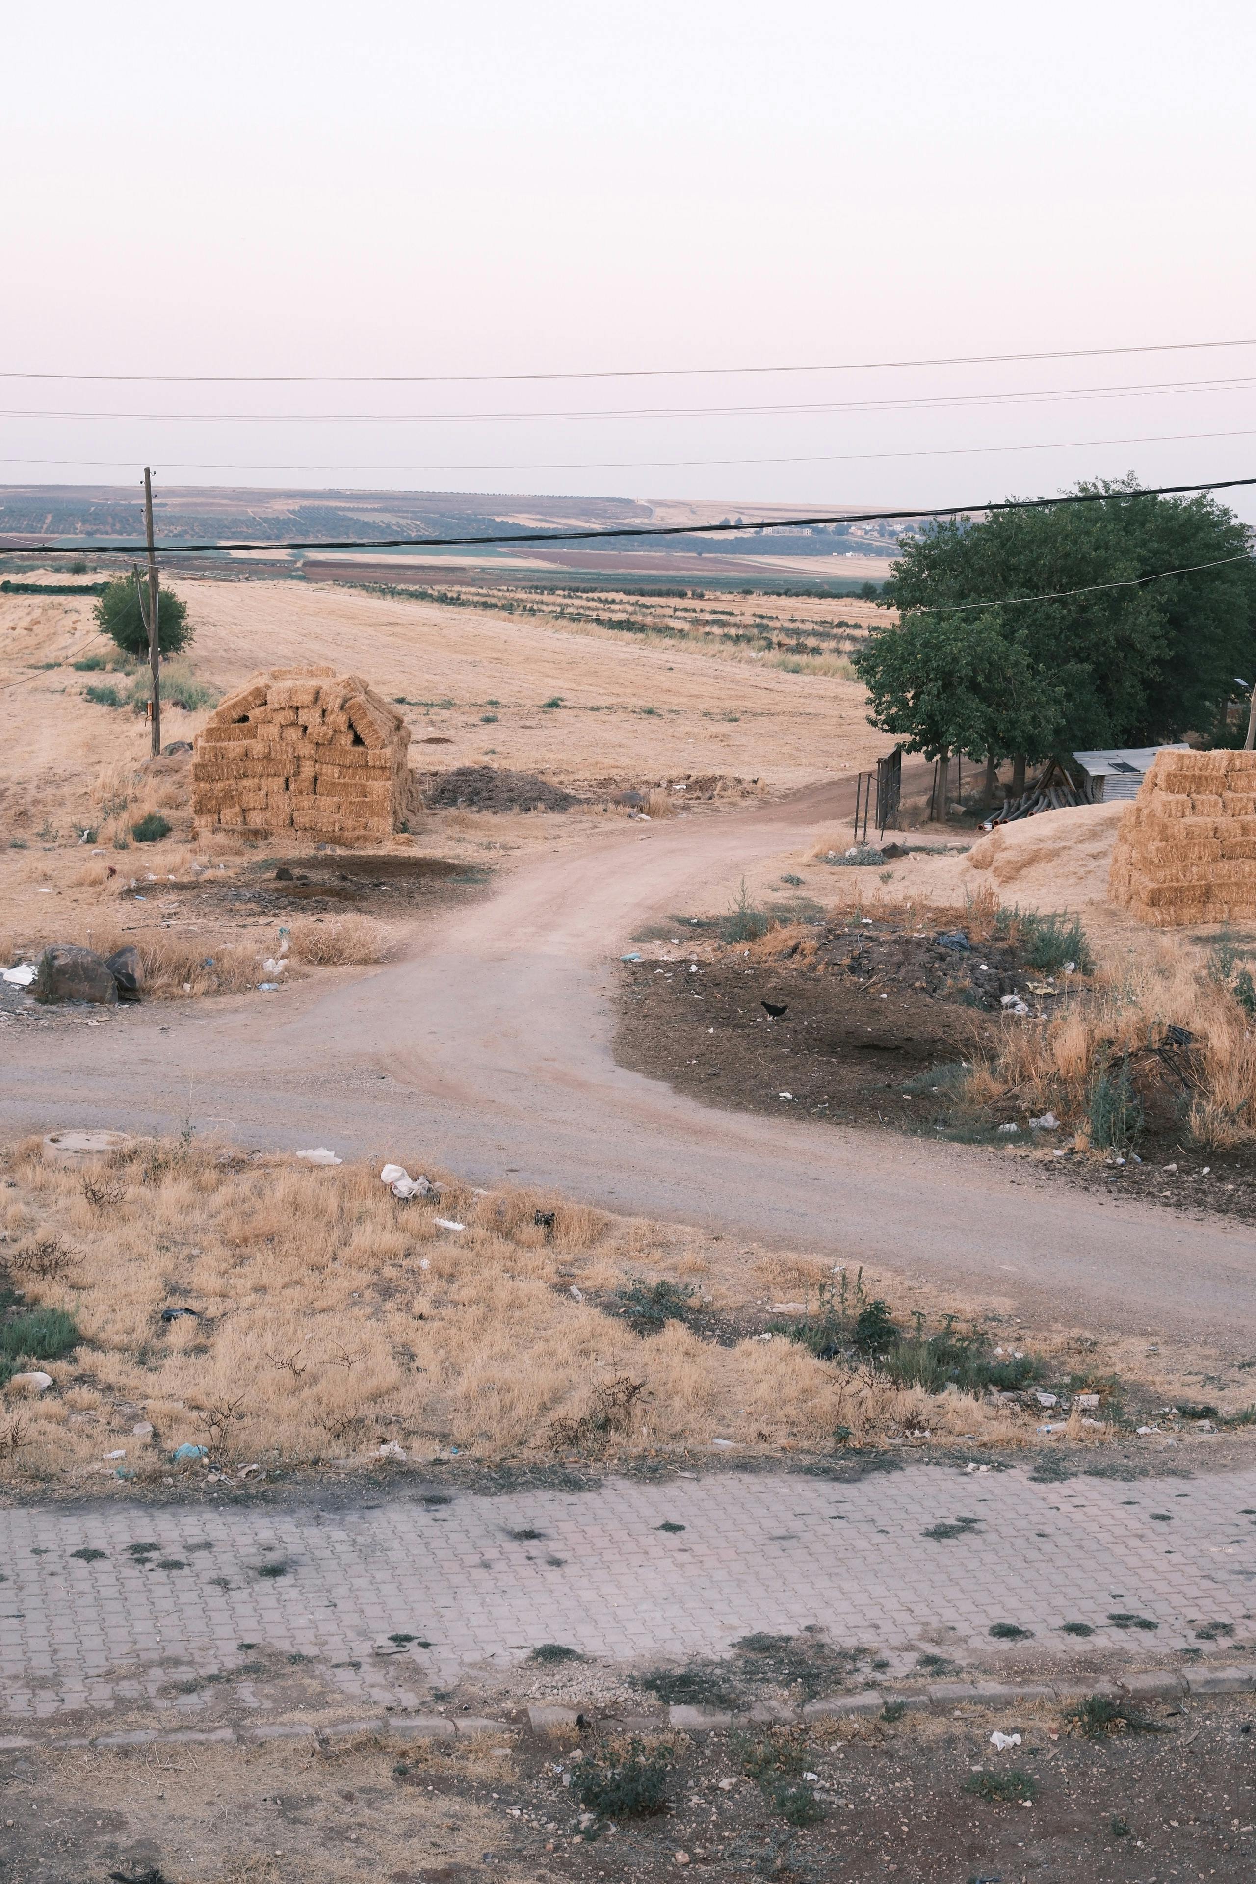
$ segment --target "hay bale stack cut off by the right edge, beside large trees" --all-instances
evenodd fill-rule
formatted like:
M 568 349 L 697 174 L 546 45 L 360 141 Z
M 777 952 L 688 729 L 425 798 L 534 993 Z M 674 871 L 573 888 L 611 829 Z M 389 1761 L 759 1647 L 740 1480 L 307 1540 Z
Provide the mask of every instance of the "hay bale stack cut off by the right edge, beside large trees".
M 1113 902 L 1158 929 L 1256 919 L 1256 752 L 1162 752 L 1120 820 Z

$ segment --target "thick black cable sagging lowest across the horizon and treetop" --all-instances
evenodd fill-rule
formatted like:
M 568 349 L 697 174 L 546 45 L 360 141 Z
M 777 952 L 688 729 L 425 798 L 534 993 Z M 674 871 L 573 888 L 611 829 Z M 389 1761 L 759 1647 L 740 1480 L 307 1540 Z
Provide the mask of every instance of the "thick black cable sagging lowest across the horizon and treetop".
M 491 537 L 343 537 L 337 541 L 307 543 L 160 543 L 162 556 L 207 556 L 215 550 L 446 550 L 476 548 L 480 544 L 508 543 L 523 546 L 527 543 L 606 543 L 621 537 L 729 537 L 748 535 L 755 529 L 808 529 L 817 524 L 904 524 L 932 516 L 962 516 L 974 511 L 1045 511 L 1066 503 L 1124 503 L 1134 497 L 1177 497 L 1201 490 L 1237 490 L 1241 484 L 1256 484 L 1256 477 L 1211 479 L 1207 484 L 1156 484 L 1147 490 L 1096 490 L 1070 492 L 1060 497 L 1002 497 L 994 503 L 947 503 L 932 511 L 861 511 L 825 516 L 780 516 L 765 518 L 763 524 L 625 524 L 618 529 L 531 529 L 507 531 Z M 75 548 L 75 544 L 70 544 Z M 111 543 L 94 544 L 109 556 L 147 554 L 147 544 Z M 66 554 L 60 544 L 15 543 L 0 544 L 4 556 L 49 556 Z M 972 607 L 972 603 L 968 605 Z

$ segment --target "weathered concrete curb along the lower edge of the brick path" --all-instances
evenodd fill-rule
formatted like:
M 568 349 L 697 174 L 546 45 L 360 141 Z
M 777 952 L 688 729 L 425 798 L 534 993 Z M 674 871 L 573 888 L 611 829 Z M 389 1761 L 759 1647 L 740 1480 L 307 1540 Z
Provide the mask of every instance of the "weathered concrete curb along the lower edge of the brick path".
M 678 1733 L 723 1733 L 729 1728 L 765 1726 L 806 1726 L 813 1720 L 842 1718 L 879 1718 L 887 1707 L 917 1713 L 928 1709 L 934 1714 L 951 1713 L 957 1707 L 1017 1707 L 1026 1701 L 1047 1701 L 1070 1705 L 1085 1701 L 1092 1694 L 1109 1697 L 1128 1696 L 1137 1701 L 1177 1701 L 1183 1696 L 1207 1699 L 1218 1694 L 1256 1694 L 1256 1667 L 1211 1667 L 1188 1669 L 1184 1675 L 1173 1669 L 1147 1669 L 1143 1673 L 1122 1675 L 1119 1681 L 1096 1675 L 1094 1681 L 1056 1681 L 1056 1682 L 998 1682 L 998 1681 L 936 1681 L 923 1688 L 864 1688 L 859 1694 L 834 1694 L 821 1701 L 808 1701 L 804 1707 L 780 1707 L 776 1703 L 757 1703 L 746 1713 L 725 1713 L 716 1707 L 674 1705 L 667 1709 L 667 1718 L 640 1714 L 633 1718 L 604 1720 L 589 1703 L 588 1709 L 531 1705 L 527 1707 L 527 1726 L 533 1733 L 578 1733 L 582 1722 L 614 1726 L 627 1733 L 657 1733 L 672 1728 Z M 478 1714 L 373 1714 L 367 1720 L 333 1722 L 262 1722 L 252 1728 L 175 1728 L 158 1733 L 149 1728 L 136 1728 L 122 1733 L 94 1733 L 62 1739 L 55 1730 L 47 1737 L 36 1739 L 26 1733 L 0 1735 L 0 1754 L 24 1752 L 32 1746 L 186 1746 L 186 1745 L 237 1745 L 247 1746 L 258 1741 L 337 1741 L 354 1733 L 388 1733 L 397 1739 L 456 1739 L 475 1733 L 516 1735 L 518 1722 L 486 1720 Z

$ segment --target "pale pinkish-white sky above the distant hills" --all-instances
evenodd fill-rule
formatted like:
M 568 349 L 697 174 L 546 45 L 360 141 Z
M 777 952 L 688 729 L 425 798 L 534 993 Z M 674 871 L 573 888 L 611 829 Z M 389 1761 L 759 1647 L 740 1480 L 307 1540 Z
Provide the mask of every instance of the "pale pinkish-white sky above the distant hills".
M 1256 473 L 1250 6 L 68 0 L 4 32 L 0 482 L 744 511 Z M 862 365 L 1205 341 L 1250 345 Z M 646 377 L 486 379 L 608 369 Z

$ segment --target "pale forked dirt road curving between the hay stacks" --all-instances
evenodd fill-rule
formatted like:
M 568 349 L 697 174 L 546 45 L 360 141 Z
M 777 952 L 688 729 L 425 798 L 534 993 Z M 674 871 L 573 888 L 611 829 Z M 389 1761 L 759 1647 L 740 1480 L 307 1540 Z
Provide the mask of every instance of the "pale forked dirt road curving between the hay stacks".
M 620 1211 L 936 1277 L 981 1302 L 1245 1349 L 1250 1230 L 1047 1189 L 989 1153 L 712 1112 L 614 1064 L 633 927 L 729 899 L 742 869 L 832 821 L 834 788 L 719 818 L 616 825 L 533 857 L 422 933 L 422 953 L 322 997 L 141 1008 L 6 1031 L 0 1129 L 169 1130 L 439 1161 Z

